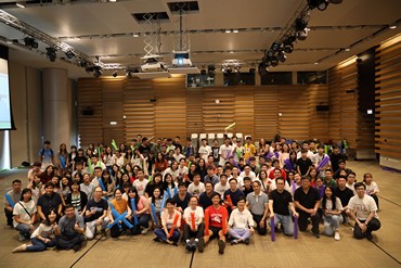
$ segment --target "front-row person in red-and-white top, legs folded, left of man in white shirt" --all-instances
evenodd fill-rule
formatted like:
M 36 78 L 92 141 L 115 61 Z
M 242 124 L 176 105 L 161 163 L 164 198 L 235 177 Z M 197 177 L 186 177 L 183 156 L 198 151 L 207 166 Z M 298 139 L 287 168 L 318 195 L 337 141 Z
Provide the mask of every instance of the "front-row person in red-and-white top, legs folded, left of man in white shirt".
M 181 214 L 176 209 L 176 201 L 173 199 L 166 201 L 166 207 L 167 209 L 164 209 L 160 215 L 161 228 L 156 228 L 154 233 L 159 240 L 170 245 L 178 245 Z

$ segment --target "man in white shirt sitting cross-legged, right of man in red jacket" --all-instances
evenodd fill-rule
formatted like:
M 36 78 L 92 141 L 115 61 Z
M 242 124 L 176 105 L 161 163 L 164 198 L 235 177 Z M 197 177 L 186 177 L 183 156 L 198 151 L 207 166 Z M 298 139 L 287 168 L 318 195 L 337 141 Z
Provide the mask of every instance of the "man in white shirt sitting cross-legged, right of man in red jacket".
M 245 207 L 245 199 L 240 197 L 235 208 L 229 219 L 229 237 L 234 240 L 231 244 L 245 243 L 249 244 L 250 235 L 255 232 L 253 215 Z

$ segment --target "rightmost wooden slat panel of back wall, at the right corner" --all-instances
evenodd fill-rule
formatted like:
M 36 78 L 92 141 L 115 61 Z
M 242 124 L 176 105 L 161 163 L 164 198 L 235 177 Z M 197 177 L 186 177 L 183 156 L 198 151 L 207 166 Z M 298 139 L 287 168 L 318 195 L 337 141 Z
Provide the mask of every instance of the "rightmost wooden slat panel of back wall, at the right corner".
M 309 89 L 309 110 L 311 127 L 309 128 L 309 137 L 318 139 L 325 138 L 321 142 L 326 142 L 328 139 L 328 115 L 331 111 L 316 111 L 316 105 L 328 105 L 328 88 L 323 85 L 311 85 Z M 329 107 L 332 109 L 332 107 Z

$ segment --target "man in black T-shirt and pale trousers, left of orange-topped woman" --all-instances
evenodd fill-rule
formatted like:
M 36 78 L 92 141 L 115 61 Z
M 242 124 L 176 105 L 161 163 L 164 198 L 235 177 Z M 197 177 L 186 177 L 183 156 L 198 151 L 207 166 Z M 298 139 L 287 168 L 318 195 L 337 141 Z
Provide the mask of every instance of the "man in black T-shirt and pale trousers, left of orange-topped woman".
M 105 234 L 106 226 L 108 224 L 107 210 L 108 203 L 102 199 L 103 190 L 100 187 L 94 189 L 93 199 L 88 201 L 87 210 L 85 213 L 85 221 L 87 222 L 87 229 L 85 235 L 88 240 L 92 240 L 96 232 L 96 227 L 101 228 L 103 234 Z

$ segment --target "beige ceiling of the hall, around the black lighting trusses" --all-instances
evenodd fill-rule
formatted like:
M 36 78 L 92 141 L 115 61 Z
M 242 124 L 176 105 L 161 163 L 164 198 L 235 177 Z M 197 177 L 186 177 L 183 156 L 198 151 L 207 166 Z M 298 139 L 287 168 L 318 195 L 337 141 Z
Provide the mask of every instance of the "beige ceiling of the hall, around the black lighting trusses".
M 179 46 L 179 18 L 171 14 L 168 2 L 172 0 L 117 0 L 117 2 L 76 0 L 43 0 L 42 5 L 29 4 L 17 8 L 15 1 L 0 1 L 0 9 L 72 46 L 95 61 L 139 66 L 145 55 L 144 38 L 152 40 L 153 52 L 171 62 L 172 50 Z M 9 2 L 9 3 L 8 3 Z M 38 2 L 38 1 L 34 1 Z M 272 42 L 282 37 L 297 12 L 307 0 L 198 0 L 198 12 L 183 16 L 183 41 L 191 50 L 191 60 L 199 68 L 208 64 L 221 64 L 224 60 L 238 60 L 244 66 L 258 64 Z M 401 33 L 400 0 L 344 0 L 329 4 L 325 11 L 312 10 L 308 38 L 297 41 L 287 61 L 270 71 L 324 71 L 379 42 Z M 168 22 L 138 23 L 132 13 L 167 12 Z M 396 29 L 388 26 L 397 25 Z M 158 28 L 159 26 L 159 28 Z M 231 33 L 225 33 L 230 29 Z M 238 29 L 238 33 L 233 33 Z M 157 33 L 147 35 L 145 33 Z M 133 35 L 139 37 L 133 37 Z M 10 47 L 10 59 L 38 68 L 62 67 L 72 78 L 92 76 L 68 61 L 63 52 L 50 62 L 44 54 L 10 44 L 17 39 L 23 43 L 24 34 L 3 24 L 0 42 Z M 161 46 L 157 46 L 159 37 Z M 39 51 L 46 47 L 39 42 Z M 345 49 L 350 48 L 350 51 Z M 319 63 L 319 64 L 315 64 Z M 112 73 L 112 72 L 109 72 Z M 121 71 L 120 75 L 124 72 Z

